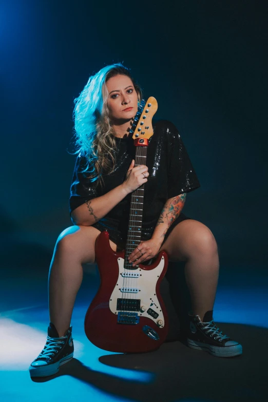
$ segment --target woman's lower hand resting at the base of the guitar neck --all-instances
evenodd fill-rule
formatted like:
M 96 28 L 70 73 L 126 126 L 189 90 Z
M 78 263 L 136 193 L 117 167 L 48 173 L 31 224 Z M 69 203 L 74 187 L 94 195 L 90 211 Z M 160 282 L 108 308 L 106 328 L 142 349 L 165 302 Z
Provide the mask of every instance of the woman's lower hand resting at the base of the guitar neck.
M 132 266 L 135 266 L 138 265 L 140 262 L 150 260 L 157 255 L 162 242 L 162 239 L 150 239 L 146 241 L 141 241 L 138 247 L 136 247 L 135 250 L 133 250 L 132 253 L 129 255 L 128 262 L 131 263 L 134 261 Z

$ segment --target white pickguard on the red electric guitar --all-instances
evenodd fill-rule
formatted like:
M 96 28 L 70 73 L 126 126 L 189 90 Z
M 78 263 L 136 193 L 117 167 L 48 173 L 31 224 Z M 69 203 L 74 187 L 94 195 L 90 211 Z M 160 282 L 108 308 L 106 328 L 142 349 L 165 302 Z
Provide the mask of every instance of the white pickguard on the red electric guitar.
M 119 266 L 119 276 L 116 287 L 113 289 L 109 307 L 113 314 L 118 314 L 117 311 L 117 299 L 128 298 L 128 299 L 139 299 L 141 300 L 141 310 L 136 312 L 139 317 L 147 317 L 152 321 L 163 328 L 164 327 L 164 316 L 161 310 L 157 295 L 156 295 L 156 284 L 157 281 L 164 269 L 164 257 L 161 258 L 158 266 L 156 266 L 153 270 L 141 270 L 138 268 L 137 270 L 125 270 L 124 269 L 124 259 L 118 258 L 118 266 Z M 123 277 L 123 274 L 133 273 L 140 274 L 137 278 L 129 278 Z M 120 289 L 138 289 L 137 293 L 122 293 Z M 146 310 L 142 311 L 142 308 L 145 307 Z M 158 315 L 157 318 L 152 317 L 148 314 L 148 309 L 154 310 Z M 161 320 L 159 322 L 159 320 Z

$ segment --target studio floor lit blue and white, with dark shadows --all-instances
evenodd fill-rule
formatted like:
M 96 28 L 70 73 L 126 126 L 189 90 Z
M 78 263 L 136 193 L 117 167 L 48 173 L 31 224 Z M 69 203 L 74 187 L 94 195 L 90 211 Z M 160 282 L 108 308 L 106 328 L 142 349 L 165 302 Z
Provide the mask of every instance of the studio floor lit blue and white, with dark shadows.
M 173 270 L 183 275 L 175 263 Z M 243 354 L 234 358 L 189 349 L 177 340 L 176 325 L 171 326 L 169 341 L 155 352 L 124 355 L 95 347 L 86 338 L 83 323 L 99 276 L 94 265 L 84 266 L 84 271 L 72 316 L 74 358 L 58 374 L 35 380 L 28 367 L 46 341 L 47 272 L 13 270 L 2 278 L 1 400 L 47 402 L 53 395 L 53 400 L 64 402 L 77 398 L 106 402 L 267 401 L 268 278 L 264 267 L 221 266 L 214 320 L 242 344 Z M 175 304 L 170 313 L 173 323 L 177 319 Z

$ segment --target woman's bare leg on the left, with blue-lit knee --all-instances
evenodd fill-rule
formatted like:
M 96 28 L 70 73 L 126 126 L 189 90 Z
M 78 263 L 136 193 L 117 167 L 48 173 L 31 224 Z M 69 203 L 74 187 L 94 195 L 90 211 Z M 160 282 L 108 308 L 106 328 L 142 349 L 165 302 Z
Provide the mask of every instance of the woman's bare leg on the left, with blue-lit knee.
M 49 317 L 59 336 L 69 328 L 76 294 L 83 279 L 82 264 L 95 261 L 95 240 L 100 231 L 92 226 L 70 226 L 59 236 L 48 279 Z M 110 240 L 112 250 L 117 245 Z

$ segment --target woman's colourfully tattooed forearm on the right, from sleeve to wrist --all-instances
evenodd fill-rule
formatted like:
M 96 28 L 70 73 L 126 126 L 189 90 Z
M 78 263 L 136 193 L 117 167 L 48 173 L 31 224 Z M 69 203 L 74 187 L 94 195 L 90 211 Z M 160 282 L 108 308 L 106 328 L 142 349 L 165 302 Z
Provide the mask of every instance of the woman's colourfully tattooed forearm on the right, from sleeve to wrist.
M 186 193 L 169 198 L 162 209 L 151 239 L 163 242 L 167 229 L 181 213 L 186 199 Z

